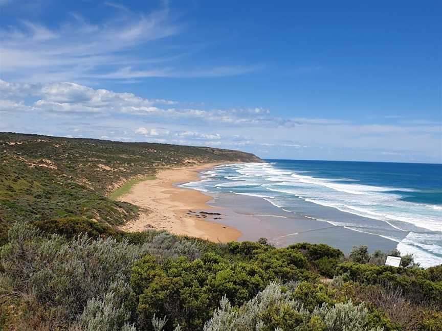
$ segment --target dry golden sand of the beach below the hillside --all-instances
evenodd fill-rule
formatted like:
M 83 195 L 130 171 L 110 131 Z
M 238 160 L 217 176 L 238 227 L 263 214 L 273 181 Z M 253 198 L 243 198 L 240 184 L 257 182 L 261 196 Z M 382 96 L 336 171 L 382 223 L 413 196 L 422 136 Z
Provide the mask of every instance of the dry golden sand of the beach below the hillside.
M 130 202 L 149 211 L 141 212 L 136 221 L 125 224 L 121 229 L 143 231 L 153 227 L 214 242 L 237 240 L 241 235 L 240 231 L 211 221 L 214 217 L 220 216 L 200 214 L 200 211 L 219 211 L 206 204 L 211 200 L 210 196 L 199 191 L 173 186 L 173 183 L 197 180 L 198 172 L 216 165 L 217 163 L 207 163 L 204 166 L 162 170 L 157 174 L 157 179 L 134 185 L 131 191 L 119 200 Z

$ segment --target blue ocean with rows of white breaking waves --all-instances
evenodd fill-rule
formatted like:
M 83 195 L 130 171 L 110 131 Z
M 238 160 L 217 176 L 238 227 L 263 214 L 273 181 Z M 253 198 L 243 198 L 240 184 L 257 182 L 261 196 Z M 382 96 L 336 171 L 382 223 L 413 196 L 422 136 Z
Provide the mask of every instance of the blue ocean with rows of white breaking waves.
M 424 267 L 442 264 L 442 164 L 266 160 L 218 166 L 183 186 L 260 197 L 392 240 Z

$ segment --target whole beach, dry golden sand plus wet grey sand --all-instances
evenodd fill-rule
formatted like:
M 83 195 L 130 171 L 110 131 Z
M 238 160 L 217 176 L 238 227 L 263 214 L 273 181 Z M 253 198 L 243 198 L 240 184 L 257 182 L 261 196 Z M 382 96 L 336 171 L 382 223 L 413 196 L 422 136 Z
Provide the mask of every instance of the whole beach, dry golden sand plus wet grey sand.
M 294 214 L 265 199 L 262 201 L 262 198 L 205 193 L 175 186 L 201 180 L 201 171 L 227 163 L 166 168 L 158 172 L 157 179 L 135 184 L 118 200 L 139 206 L 140 217 L 120 226 L 120 229 L 129 232 L 164 229 L 174 234 L 222 243 L 257 241 L 264 237 L 277 247 L 297 242 L 325 243 L 345 253 L 361 244 L 367 245 L 370 251 L 396 248 L 397 243 L 390 239 Z M 201 211 L 207 214 L 201 214 Z M 214 212 L 220 215 L 210 215 Z M 343 238 L 346 240 L 343 241 Z

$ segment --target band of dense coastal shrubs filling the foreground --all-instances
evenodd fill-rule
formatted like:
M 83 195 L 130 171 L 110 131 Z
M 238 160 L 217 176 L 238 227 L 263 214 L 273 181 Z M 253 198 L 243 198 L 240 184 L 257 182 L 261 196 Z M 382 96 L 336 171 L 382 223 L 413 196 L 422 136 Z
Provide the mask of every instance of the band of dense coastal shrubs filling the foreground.
M 306 243 L 278 249 L 166 231 L 50 232 L 16 223 L 1 248 L 5 330 L 441 329 L 441 266 L 349 262 Z M 318 273 L 335 265 L 333 280 Z

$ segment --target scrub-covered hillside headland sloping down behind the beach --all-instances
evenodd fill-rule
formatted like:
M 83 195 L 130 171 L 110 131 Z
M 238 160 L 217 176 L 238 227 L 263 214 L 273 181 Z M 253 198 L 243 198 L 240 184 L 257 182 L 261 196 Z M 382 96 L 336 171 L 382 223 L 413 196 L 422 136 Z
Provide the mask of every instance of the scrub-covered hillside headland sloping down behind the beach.
M 260 159 L 208 147 L 0 133 L 0 242 L 15 221 L 80 217 L 123 224 L 137 216 L 137 207 L 107 196 L 128 180 L 165 167 L 224 161 Z

